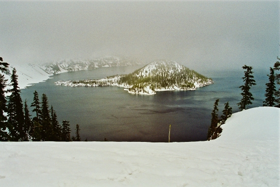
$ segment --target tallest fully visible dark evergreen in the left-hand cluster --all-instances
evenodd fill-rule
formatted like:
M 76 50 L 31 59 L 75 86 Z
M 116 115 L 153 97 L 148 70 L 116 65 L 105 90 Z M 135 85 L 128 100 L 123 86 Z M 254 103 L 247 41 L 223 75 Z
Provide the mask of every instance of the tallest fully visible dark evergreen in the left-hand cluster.
M 11 86 L 12 89 L 9 90 L 11 95 L 8 96 L 8 122 L 9 131 L 12 139 L 14 141 L 19 141 L 25 137 L 24 132 L 24 114 L 22 100 L 20 97 L 20 90 L 18 87 L 16 69 L 13 68 L 11 75 Z

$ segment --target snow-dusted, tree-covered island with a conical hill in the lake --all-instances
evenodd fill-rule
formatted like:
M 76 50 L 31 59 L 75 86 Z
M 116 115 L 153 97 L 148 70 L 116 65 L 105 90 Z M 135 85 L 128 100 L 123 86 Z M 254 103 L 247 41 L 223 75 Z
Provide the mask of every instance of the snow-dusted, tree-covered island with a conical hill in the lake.
M 57 86 L 96 87 L 119 86 L 129 93 L 155 94 L 166 90 L 196 90 L 213 84 L 213 81 L 175 61 L 154 61 L 130 74 L 100 80 L 58 81 Z

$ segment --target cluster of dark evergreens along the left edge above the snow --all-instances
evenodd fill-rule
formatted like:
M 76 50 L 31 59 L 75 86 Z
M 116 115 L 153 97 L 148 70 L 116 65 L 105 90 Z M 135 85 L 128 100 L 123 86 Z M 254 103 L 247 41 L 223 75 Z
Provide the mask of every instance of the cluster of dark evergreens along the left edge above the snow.
M 0 70 L 7 71 L 9 64 L 0 57 Z M 34 92 L 31 103 L 34 118 L 30 118 L 27 101 L 22 104 L 16 69 L 11 73 L 10 89 L 4 74 L 0 75 L 0 141 L 80 141 L 80 128 L 76 125 L 75 134 L 71 138 L 69 121 L 62 125 L 57 121 L 53 106 L 49 108 L 48 98 L 43 94 L 41 101 L 38 92 Z M 9 95 L 8 95 L 9 94 Z M 6 96 L 8 95 L 8 96 Z

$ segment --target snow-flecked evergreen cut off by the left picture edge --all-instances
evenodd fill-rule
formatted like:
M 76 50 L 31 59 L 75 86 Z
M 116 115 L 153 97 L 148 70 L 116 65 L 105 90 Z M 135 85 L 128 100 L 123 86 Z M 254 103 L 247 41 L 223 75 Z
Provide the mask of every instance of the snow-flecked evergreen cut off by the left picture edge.
M 0 70 L 3 72 L 7 70 L 8 63 L 4 65 L 2 57 L 0 57 Z M 4 67 L 2 67 L 4 66 Z M 7 117 L 4 115 L 4 113 L 7 113 L 7 99 L 6 99 L 6 91 L 5 88 L 7 86 L 7 81 L 3 74 L 0 74 L 0 141 L 7 141 L 10 139 L 8 133 L 6 132 L 6 129 L 8 127 L 7 123 Z

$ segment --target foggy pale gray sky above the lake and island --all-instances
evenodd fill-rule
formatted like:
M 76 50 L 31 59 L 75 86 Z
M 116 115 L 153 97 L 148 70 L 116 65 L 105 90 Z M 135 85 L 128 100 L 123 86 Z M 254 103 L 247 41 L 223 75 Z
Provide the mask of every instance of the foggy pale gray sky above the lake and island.
M 0 56 L 13 63 L 131 56 L 193 69 L 268 68 L 279 1 L 0 1 Z

